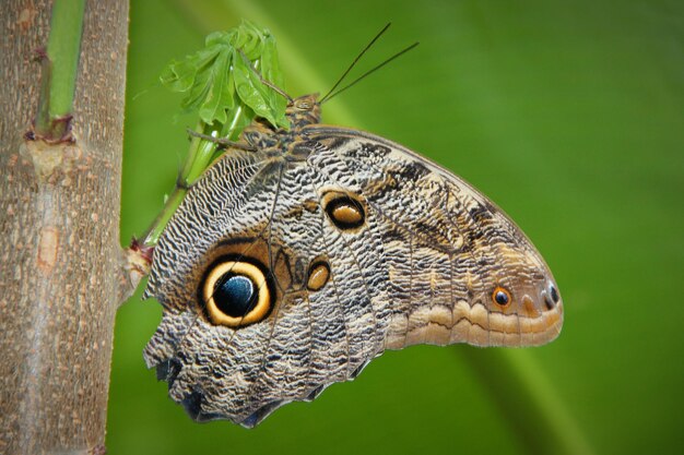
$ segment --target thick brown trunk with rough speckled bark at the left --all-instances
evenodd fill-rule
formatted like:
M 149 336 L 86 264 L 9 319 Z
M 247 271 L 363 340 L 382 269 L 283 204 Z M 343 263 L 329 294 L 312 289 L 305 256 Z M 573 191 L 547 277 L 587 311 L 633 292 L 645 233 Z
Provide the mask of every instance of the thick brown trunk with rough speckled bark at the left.
M 0 5 L 0 453 L 102 453 L 122 292 L 128 2 L 89 0 L 76 142 L 26 141 L 50 2 Z

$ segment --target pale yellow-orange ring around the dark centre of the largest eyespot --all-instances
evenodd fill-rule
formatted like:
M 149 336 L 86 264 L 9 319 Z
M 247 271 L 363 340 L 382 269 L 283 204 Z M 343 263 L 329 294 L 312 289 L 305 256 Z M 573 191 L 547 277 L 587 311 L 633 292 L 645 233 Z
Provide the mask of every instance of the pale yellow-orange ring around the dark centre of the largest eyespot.
M 216 283 L 226 273 L 244 275 L 255 284 L 258 292 L 257 304 L 243 318 L 229 316 L 219 309 L 214 301 L 214 287 Z M 226 261 L 214 266 L 208 274 L 202 288 L 202 297 L 207 306 L 207 312 L 212 323 L 227 325 L 228 327 L 241 327 L 261 321 L 270 310 L 271 291 L 263 276 L 263 272 L 259 267 L 248 262 Z

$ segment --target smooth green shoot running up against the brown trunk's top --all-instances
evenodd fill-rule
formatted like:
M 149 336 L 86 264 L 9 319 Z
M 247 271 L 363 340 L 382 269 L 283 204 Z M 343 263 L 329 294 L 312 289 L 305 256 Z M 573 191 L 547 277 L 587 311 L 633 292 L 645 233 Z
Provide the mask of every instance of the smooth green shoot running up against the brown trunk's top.
M 85 0 L 55 0 L 43 64 L 43 87 L 36 133 L 48 140 L 63 139 L 70 129 L 75 92 Z

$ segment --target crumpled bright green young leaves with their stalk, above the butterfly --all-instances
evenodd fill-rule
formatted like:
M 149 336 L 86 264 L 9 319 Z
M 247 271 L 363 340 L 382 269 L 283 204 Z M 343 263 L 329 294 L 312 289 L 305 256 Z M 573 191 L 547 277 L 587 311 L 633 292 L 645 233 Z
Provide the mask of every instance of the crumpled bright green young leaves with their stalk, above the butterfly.
M 256 71 L 260 71 L 261 76 Z M 212 33 L 204 48 L 181 61 L 172 61 L 161 75 L 172 92 L 184 94 L 180 106 L 197 111 L 197 132 L 222 135 L 238 141 L 241 131 L 255 117 L 262 117 L 273 128 L 288 128 L 286 100 L 263 80 L 279 87 L 283 75 L 278 62 L 275 39 L 266 29 L 244 21 L 228 32 Z M 182 166 L 178 184 L 162 213 L 144 236 L 143 244 L 156 244 L 164 226 L 170 219 L 186 192 L 222 153 L 215 142 L 196 137 Z

